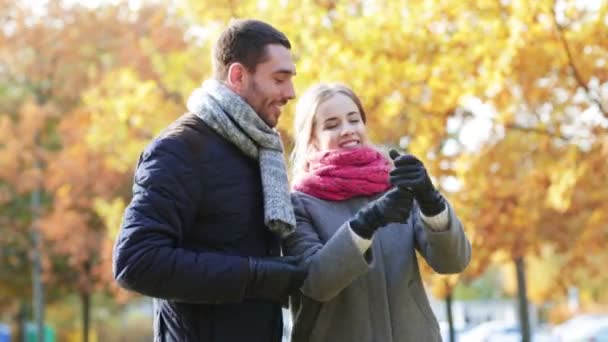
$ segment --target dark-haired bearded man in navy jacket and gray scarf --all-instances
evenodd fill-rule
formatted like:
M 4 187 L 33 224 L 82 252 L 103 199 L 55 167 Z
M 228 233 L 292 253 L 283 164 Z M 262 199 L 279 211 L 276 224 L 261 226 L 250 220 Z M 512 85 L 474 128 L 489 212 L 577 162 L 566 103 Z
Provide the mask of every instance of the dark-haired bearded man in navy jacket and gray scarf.
M 140 156 L 113 272 L 155 298 L 155 341 L 281 340 L 281 303 L 307 272 L 279 257 L 295 227 L 272 129 L 295 96 L 290 48 L 266 23 L 233 22 L 214 79 Z

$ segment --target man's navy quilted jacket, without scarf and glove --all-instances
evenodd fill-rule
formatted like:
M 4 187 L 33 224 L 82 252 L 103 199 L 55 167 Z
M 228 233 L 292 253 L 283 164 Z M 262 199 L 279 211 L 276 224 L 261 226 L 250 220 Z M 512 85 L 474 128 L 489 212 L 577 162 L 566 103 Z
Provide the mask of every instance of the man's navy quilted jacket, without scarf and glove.
M 193 114 L 141 154 L 113 271 L 154 298 L 155 341 L 280 341 L 280 305 L 244 300 L 247 256 L 279 255 L 258 162 Z

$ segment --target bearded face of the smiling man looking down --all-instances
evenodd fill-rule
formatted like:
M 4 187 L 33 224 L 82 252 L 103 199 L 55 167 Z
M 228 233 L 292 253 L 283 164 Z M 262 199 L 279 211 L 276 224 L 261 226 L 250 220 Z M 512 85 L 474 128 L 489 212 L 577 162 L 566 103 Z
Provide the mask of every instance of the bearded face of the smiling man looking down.
M 239 95 L 256 111 L 264 122 L 275 127 L 281 108 L 295 97 L 292 77 L 296 67 L 291 51 L 279 44 L 266 46 L 266 58 L 246 74 L 245 84 Z

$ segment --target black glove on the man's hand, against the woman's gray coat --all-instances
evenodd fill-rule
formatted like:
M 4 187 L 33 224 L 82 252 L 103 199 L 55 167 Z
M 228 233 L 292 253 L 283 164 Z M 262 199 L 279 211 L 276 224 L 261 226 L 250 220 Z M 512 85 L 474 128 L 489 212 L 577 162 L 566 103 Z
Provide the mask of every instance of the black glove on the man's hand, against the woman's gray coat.
M 298 256 L 249 258 L 246 298 L 283 303 L 298 292 L 308 274 L 308 258 Z

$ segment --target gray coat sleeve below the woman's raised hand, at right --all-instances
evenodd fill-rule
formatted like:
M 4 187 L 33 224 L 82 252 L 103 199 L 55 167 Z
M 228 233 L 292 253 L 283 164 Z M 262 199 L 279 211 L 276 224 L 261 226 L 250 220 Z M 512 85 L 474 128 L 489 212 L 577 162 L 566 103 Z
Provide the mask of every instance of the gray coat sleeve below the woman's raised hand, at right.
M 420 210 L 414 206 L 412 222 L 416 239 L 416 249 L 433 270 L 441 274 L 462 272 L 471 260 L 471 243 L 467 239 L 462 223 L 454 209 L 448 207 L 448 229 L 435 231 L 421 218 Z

